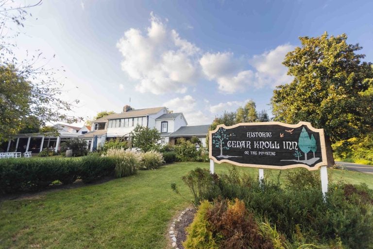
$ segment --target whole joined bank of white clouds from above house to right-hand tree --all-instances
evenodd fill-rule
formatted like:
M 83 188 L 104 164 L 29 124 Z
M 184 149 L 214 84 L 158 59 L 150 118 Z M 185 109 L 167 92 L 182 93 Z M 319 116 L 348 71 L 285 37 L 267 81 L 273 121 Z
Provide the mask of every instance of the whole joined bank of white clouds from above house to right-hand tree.
M 203 53 L 151 13 L 146 32 L 127 30 L 117 48 L 123 55 L 122 70 L 135 80 L 139 92 L 183 94 L 206 78 L 215 81 L 220 92 L 232 94 L 289 82 L 281 63 L 294 46 L 279 45 L 250 59 L 231 52 Z

